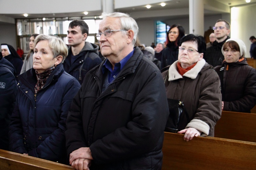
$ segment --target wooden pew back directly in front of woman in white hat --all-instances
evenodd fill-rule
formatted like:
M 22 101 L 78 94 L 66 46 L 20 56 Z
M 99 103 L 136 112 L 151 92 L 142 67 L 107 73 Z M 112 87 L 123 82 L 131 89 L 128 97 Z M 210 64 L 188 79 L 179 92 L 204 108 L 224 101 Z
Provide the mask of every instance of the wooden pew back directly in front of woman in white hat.
M 222 111 L 214 137 L 256 142 L 256 114 Z

